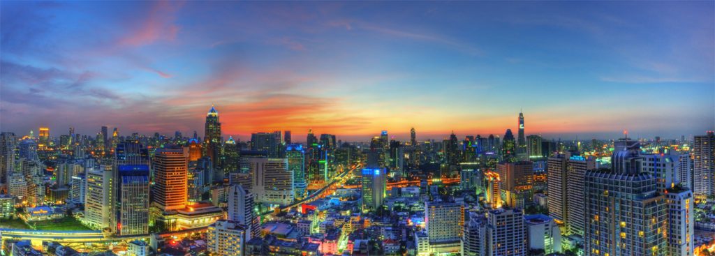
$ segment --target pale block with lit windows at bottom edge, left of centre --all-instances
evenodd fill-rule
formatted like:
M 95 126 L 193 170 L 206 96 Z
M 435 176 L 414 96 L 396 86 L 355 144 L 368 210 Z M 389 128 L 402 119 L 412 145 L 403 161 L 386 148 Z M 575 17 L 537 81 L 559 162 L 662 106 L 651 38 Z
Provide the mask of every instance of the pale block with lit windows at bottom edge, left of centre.
M 209 226 L 207 251 L 215 256 L 242 256 L 247 242 L 246 227 L 230 220 L 219 220 Z

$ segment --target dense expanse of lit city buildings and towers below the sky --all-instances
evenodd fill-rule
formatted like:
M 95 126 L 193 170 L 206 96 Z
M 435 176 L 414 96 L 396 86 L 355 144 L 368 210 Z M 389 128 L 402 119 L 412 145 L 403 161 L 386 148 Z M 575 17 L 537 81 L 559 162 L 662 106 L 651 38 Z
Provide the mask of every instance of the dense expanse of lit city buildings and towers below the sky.
M 715 195 L 715 134 L 556 141 L 527 136 L 519 113 L 516 137 L 242 142 L 212 107 L 203 138 L 3 132 L 0 184 L 0 219 L 71 212 L 139 237 L 129 255 L 169 254 L 141 237 L 181 230 L 210 255 L 695 255 L 696 222 L 715 223 L 699 207 Z M 46 249 L 33 245 L 3 248 Z

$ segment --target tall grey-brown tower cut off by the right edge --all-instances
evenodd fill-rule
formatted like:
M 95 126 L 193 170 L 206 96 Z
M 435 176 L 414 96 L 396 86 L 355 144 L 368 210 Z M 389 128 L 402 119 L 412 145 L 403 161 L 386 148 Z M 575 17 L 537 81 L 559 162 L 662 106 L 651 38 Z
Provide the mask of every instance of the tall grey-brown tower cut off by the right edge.
M 696 197 L 715 195 L 715 132 L 696 136 L 693 141 L 693 193 Z

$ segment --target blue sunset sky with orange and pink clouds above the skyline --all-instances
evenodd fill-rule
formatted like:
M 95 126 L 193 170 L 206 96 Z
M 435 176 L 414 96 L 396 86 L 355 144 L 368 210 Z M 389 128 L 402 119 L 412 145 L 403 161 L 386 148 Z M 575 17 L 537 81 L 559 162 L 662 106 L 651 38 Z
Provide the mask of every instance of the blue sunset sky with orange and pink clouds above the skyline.
M 715 129 L 714 1 L 0 1 L 0 130 Z M 305 140 L 305 139 L 303 139 Z

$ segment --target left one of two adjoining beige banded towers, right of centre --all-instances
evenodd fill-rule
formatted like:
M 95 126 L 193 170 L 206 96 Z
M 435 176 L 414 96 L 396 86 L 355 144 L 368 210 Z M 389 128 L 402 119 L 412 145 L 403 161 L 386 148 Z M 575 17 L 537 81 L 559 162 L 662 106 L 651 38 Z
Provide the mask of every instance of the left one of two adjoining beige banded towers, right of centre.
M 566 222 L 568 218 L 567 202 L 567 159 L 563 155 L 549 157 L 546 160 L 546 179 L 548 181 L 548 215 Z

